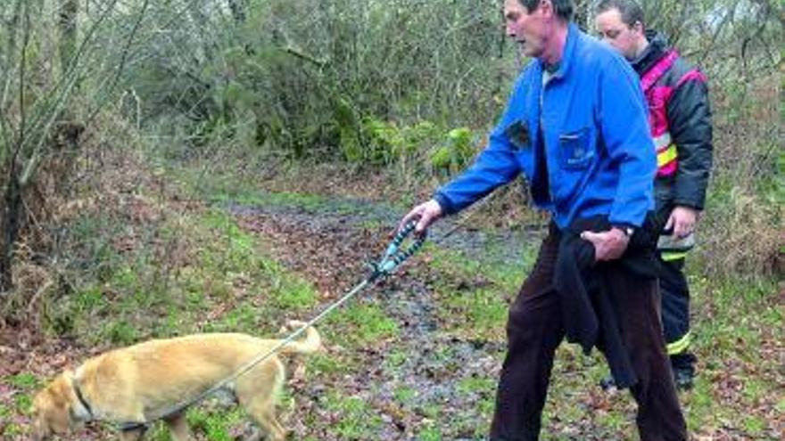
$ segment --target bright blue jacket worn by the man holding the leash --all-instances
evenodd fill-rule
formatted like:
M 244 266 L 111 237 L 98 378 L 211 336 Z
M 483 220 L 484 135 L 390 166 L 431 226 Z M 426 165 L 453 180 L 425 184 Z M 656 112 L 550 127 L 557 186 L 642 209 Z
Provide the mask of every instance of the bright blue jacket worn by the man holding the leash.
M 638 76 L 574 23 L 544 90 L 542 71 L 540 60 L 528 64 L 488 145 L 434 199 L 454 213 L 524 173 L 534 204 L 560 228 L 589 216 L 642 225 L 654 208 L 657 158 Z M 547 181 L 537 167 L 542 151 Z

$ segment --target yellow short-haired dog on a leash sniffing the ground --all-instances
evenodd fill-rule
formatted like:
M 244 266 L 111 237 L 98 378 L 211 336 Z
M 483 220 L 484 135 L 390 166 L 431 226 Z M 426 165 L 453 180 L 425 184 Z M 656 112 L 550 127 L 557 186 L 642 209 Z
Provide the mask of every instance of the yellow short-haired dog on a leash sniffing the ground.
M 289 323 L 290 327 L 304 325 Z M 32 411 L 34 439 L 65 434 L 87 421 L 120 425 L 147 421 L 199 396 L 280 343 L 279 339 L 239 333 L 194 334 L 154 339 L 95 356 L 75 371 L 62 372 L 37 393 Z M 278 354 L 306 355 L 320 348 L 318 332 L 310 327 L 305 339 L 286 343 Z M 275 441 L 286 436 L 275 411 L 284 381 L 284 364 L 272 355 L 227 385 L 252 420 Z M 192 439 L 184 412 L 164 419 L 176 441 Z M 123 430 L 122 439 L 136 441 L 144 434 L 145 427 L 137 424 Z

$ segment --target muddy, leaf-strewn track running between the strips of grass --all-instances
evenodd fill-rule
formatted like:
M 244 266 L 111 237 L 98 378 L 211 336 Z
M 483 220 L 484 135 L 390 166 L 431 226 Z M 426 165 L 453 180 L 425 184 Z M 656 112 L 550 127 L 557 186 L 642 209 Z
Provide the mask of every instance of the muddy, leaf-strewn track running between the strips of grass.
M 296 202 L 233 204 L 228 210 L 241 226 L 264 237 L 280 263 L 316 284 L 323 297 L 318 310 L 362 280 L 367 274 L 364 262 L 381 254 L 403 215 L 398 209 L 368 200 L 331 200 L 308 206 Z M 455 220 L 448 217 L 430 233 L 438 241 L 454 225 Z M 461 228 L 437 246 L 471 259 L 490 259 L 491 264 L 510 262 L 522 258 L 526 236 L 531 233 L 494 234 Z M 487 254 L 489 248 L 494 249 L 493 255 Z M 373 293 L 367 291 L 352 300 L 380 299 L 378 304 L 400 330 L 392 342 L 363 349 L 366 363 L 361 371 L 350 372 L 335 385 L 359 396 L 381 416 L 383 424 L 375 439 L 418 439 L 417 432 L 433 425 L 434 418 L 442 421 L 442 439 L 477 439 L 476 430 L 488 423 L 481 402 L 492 401 L 495 390 L 460 388 L 459 383 L 495 379 L 504 343 L 458 339 L 440 330 L 442 323 L 434 312 L 436 299 L 430 286 L 441 275 L 413 257 L 397 274 L 380 282 Z M 325 387 L 304 388 L 306 395 L 318 401 Z M 404 404 L 397 399 L 401 391 L 411 391 Z M 433 414 L 434 406 L 439 409 L 438 416 Z M 319 412 L 309 408 L 298 413 L 301 411 Z M 460 424 L 447 426 L 443 421 Z M 294 431 L 331 439 L 326 430 L 314 433 L 314 429 L 295 425 Z

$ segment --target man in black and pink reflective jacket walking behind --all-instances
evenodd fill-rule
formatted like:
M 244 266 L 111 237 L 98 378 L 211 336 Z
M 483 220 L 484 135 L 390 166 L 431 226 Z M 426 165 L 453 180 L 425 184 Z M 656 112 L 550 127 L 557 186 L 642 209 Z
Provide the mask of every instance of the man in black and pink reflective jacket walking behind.
M 645 29 L 633 0 L 604 0 L 596 9 L 600 37 L 631 62 L 649 103 L 657 147 L 655 198 L 663 233 L 657 243 L 662 272 L 662 319 L 673 376 L 690 388 L 695 355 L 690 346 L 690 291 L 684 257 L 704 207 L 712 164 L 712 127 L 706 77 L 684 61 L 665 37 Z

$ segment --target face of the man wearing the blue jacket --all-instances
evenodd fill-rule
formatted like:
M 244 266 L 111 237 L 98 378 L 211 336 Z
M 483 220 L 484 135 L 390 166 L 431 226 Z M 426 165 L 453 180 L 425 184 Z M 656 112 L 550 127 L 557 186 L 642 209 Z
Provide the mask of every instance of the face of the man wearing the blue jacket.
M 521 53 L 525 56 L 540 57 L 544 52 L 548 29 L 546 18 L 551 10 L 549 0 L 541 0 L 532 12 L 527 12 L 518 0 L 505 0 L 507 35 L 521 45 Z

